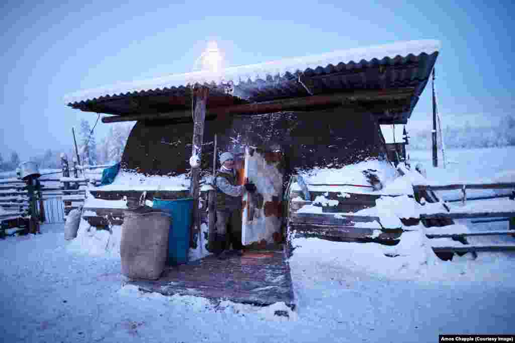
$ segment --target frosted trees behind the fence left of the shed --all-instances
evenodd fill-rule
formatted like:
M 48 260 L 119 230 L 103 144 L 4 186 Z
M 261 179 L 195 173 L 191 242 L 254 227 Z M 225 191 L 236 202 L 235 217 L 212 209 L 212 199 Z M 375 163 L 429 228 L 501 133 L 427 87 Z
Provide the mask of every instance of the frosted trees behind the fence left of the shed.
M 106 165 L 121 160 L 130 130 L 131 127 L 127 125 L 114 124 L 108 135 L 97 143 L 94 132 L 90 135 L 89 122 L 81 120 L 80 129 L 77 132 L 77 148 L 81 164 Z M 61 153 L 65 153 L 70 161 L 70 167 L 72 167 L 72 160 L 77 156 L 75 147 L 71 145 L 65 150 L 47 149 L 43 154 L 32 156 L 28 160 L 36 162 L 40 169 L 59 169 L 61 168 Z M 13 152 L 9 159 L 4 159 L 0 152 L 0 171 L 14 170 L 21 162 L 16 152 Z

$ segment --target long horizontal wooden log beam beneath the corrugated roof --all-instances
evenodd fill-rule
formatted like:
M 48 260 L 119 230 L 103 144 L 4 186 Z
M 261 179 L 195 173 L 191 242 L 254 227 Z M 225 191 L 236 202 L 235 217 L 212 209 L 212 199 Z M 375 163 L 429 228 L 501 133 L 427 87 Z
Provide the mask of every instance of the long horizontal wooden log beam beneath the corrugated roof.
M 233 105 L 226 107 L 214 107 L 207 109 L 206 115 L 252 115 L 275 113 L 283 111 L 306 111 L 320 107 L 332 107 L 347 104 L 349 107 L 356 107 L 353 102 L 363 101 L 383 101 L 383 100 L 404 100 L 409 99 L 414 92 L 414 87 L 405 87 L 397 89 L 379 89 L 355 91 L 351 93 L 337 93 L 331 95 L 315 95 L 303 98 L 282 99 L 267 102 L 250 103 L 243 105 Z M 362 109 L 362 106 L 357 106 Z M 112 123 L 120 121 L 135 120 L 160 120 L 160 119 L 177 119 L 183 117 L 191 117 L 192 113 L 188 111 L 174 111 L 168 113 L 142 113 L 124 116 L 103 117 L 102 122 Z

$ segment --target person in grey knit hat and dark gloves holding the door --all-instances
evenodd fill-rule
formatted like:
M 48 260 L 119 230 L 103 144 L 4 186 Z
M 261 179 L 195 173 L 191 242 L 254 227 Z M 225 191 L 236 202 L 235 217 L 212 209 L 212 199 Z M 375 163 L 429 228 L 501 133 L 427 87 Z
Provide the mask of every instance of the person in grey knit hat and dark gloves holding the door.
M 243 256 L 242 245 L 242 195 L 243 191 L 255 192 L 252 183 L 243 186 L 236 184 L 237 177 L 234 170 L 234 156 L 230 152 L 220 155 L 221 167 L 215 175 L 216 185 L 216 254 L 219 259 L 226 259 L 231 253 L 229 247 L 232 242 L 235 255 Z M 230 234 L 227 226 L 230 226 Z M 232 238 L 232 239 L 230 239 Z

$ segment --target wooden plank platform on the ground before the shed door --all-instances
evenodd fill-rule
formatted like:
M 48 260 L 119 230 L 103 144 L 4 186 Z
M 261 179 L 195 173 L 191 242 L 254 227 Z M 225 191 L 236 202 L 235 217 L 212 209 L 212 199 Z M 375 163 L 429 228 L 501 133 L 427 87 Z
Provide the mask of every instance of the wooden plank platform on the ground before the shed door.
M 245 251 L 243 257 L 232 256 L 228 260 L 211 255 L 168 267 L 159 280 L 127 283 L 167 296 L 195 295 L 256 305 L 284 301 L 290 308 L 295 307 L 284 251 Z

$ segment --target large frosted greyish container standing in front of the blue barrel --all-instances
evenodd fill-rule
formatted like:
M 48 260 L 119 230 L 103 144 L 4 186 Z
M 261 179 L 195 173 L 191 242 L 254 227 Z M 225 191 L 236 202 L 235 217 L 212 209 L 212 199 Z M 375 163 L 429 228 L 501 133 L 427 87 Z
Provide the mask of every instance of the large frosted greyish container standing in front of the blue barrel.
M 124 213 L 122 274 L 131 279 L 156 280 L 166 263 L 171 216 L 146 206 Z

